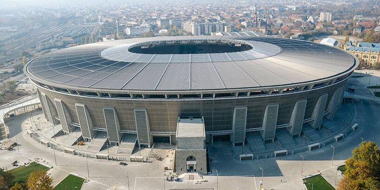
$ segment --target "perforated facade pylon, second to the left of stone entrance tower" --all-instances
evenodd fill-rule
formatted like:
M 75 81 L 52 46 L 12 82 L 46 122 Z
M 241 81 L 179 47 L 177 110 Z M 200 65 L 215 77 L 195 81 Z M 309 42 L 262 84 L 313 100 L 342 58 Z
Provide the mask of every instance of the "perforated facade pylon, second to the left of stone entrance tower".
M 120 126 L 114 108 L 103 108 L 104 120 L 106 121 L 108 141 L 120 143 Z

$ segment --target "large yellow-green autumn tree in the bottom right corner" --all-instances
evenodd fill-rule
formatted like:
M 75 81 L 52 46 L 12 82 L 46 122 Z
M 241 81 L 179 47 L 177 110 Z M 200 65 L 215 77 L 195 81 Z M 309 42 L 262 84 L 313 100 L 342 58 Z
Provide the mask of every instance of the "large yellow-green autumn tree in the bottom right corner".
M 338 190 L 380 189 L 380 150 L 375 142 L 362 142 L 345 164 L 346 171 Z

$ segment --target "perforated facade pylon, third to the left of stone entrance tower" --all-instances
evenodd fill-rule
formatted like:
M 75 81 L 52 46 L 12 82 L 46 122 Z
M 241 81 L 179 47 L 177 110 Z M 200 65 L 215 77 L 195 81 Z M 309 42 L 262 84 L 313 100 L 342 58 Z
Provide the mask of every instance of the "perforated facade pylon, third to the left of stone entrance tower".
M 80 130 L 82 131 L 83 138 L 92 139 L 93 135 L 93 123 L 90 115 L 87 112 L 86 106 L 83 104 L 75 104 L 76 113 L 78 115 Z

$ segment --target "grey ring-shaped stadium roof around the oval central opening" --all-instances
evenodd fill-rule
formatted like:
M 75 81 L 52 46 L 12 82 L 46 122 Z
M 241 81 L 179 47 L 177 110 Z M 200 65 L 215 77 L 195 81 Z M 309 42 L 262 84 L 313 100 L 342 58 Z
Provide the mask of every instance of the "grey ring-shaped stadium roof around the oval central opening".
M 249 50 L 199 54 L 133 53 L 131 47 L 224 41 Z M 223 49 L 223 48 L 222 48 Z M 197 51 L 197 50 L 194 50 Z M 223 50 L 220 50 L 223 51 Z M 30 61 L 28 76 L 56 86 L 90 89 L 222 90 L 304 83 L 338 76 L 356 66 L 337 48 L 284 38 L 180 36 L 133 38 L 57 50 Z

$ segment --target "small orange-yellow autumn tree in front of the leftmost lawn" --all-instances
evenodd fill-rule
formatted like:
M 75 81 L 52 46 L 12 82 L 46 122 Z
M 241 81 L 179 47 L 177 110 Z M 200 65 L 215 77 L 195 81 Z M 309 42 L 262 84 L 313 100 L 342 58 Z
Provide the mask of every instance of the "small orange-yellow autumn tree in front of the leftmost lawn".
M 46 175 L 46 171 L 33 171 L 28 178 L 27 186 L 30 190 L 53 190 L 53 178 Z

